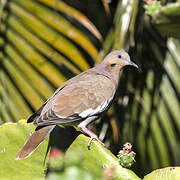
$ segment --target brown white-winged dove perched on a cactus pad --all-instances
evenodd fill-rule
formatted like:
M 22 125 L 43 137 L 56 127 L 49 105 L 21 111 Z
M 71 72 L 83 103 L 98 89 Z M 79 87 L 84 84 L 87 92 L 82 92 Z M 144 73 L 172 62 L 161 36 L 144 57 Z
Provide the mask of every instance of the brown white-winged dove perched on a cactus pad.
M 112 51 L 101 64 L 82 72 L 57 89 L 28 119 L 27 122 L 33 122 L 37 128 L 16 159 L 30 156 L 56 125 L 76 126 L 90 136 L 88 147 L 93 139 L 103 144 L 87 125 L 98 119 L 112 104 L 119 71 L 126 65 L 138 68 L 124 50 Z

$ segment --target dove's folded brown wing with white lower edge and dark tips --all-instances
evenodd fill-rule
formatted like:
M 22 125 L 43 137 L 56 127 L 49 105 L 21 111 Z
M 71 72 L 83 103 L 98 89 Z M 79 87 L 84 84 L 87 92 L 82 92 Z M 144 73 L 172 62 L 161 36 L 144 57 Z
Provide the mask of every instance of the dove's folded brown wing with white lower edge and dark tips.
M 115 89 L 114 83 L 106 76 L 96 74 L 92 77 L 92 74 L 85 74 L 78 81 L 66 83 L 47 102 L 45 111 L 42 111 L 34 124 L 63 124 L 102 113 L 107 109 L 109 100 L 112 100 Z

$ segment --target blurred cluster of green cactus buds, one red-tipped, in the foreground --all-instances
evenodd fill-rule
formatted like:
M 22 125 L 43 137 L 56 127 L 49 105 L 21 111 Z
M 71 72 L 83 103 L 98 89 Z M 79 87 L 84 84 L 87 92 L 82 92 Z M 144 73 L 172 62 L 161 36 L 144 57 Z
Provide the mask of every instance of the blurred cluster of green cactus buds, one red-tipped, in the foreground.
M 81 156 L 79 153 L 70 153 L 68 157 L 64 157 L 59 149 L 53 147 L 50 152 L 49 173 L 47 180 L 73 179 L 73 180 L 99 180 L 95 175 L 89 173 L 85 169 L 79 167 Z

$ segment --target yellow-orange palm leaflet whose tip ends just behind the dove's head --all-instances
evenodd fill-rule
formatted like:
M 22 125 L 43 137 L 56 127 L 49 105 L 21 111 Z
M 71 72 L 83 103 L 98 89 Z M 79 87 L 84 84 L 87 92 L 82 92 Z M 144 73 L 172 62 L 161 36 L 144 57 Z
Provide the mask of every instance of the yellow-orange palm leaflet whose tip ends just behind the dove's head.
M 78 29 L 72 26 L 65 18 L 61 17 L 60 14 L 53 13 L 45 6 L 42 6 L 35 1 L 19 1 L 15 0 L 17 4 L 25 8 L 25 10 L 33 13 L 37 18 L 47 23 L 50 27 L 53 27 L 60 33 L 67 36 L 78 43 L 82 48 L 87 50 L 87 52 L 96 60 L 98 60 L 98 51 L 94 45 L 88 40 L 85 34 L 81 33 Z

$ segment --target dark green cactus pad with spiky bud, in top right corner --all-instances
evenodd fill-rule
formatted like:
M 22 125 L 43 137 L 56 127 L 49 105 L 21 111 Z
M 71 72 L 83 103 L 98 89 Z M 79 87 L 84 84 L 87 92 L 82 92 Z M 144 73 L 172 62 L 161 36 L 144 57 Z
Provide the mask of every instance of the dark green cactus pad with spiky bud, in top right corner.
M 160 1 L 146 1 L 145 9 L 162 34 L 180 38 L 180 2 L 163 5 Z

